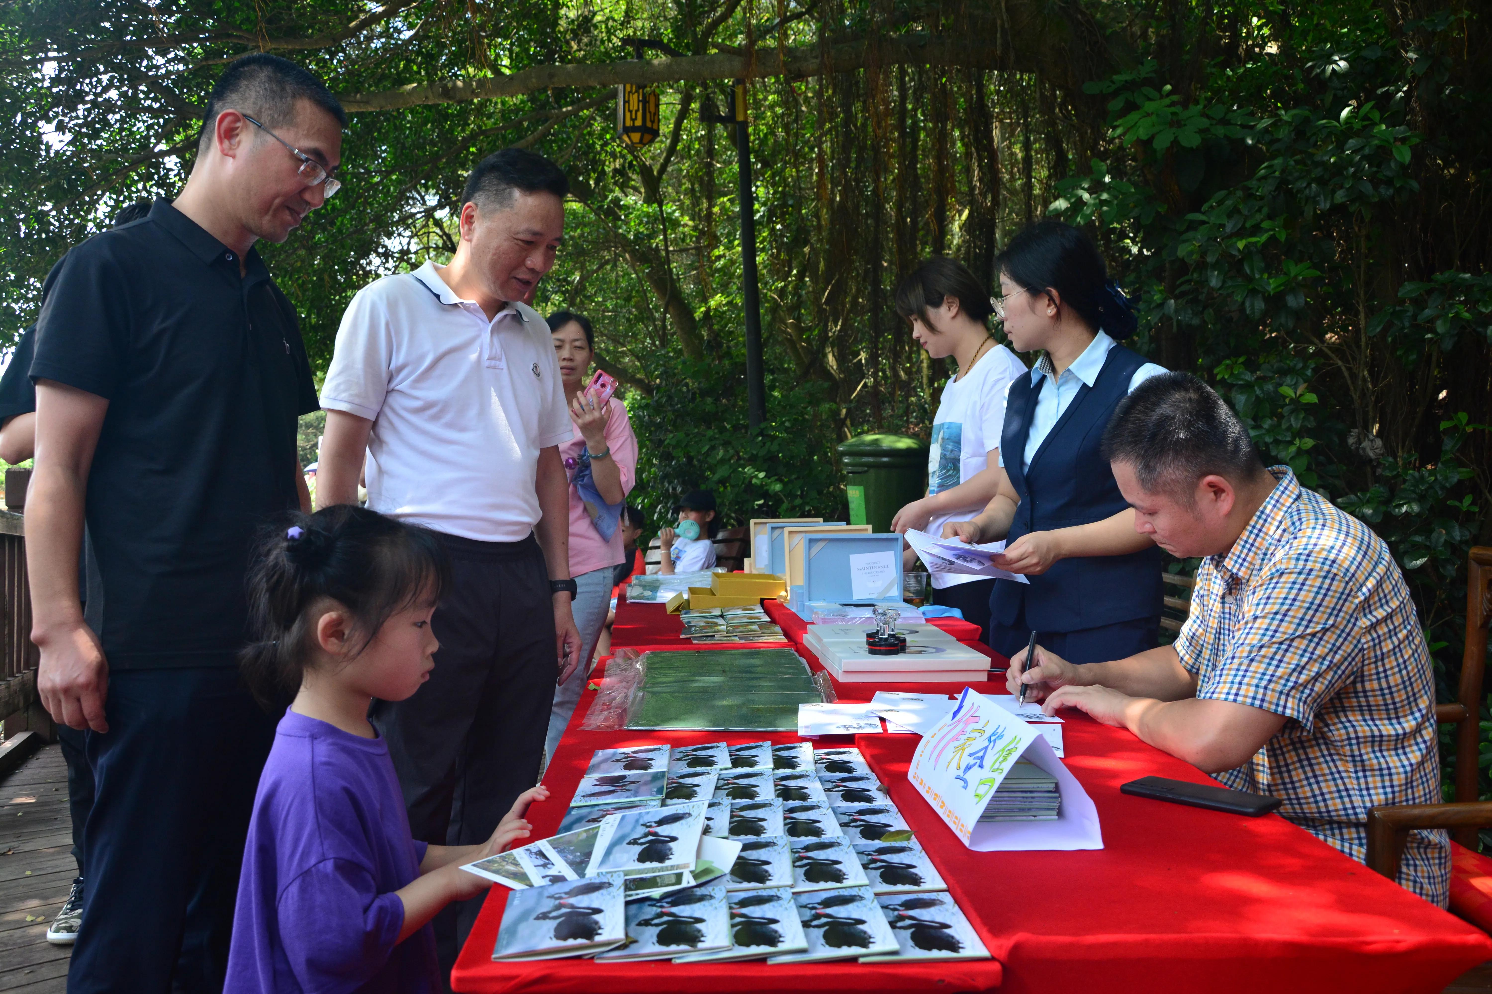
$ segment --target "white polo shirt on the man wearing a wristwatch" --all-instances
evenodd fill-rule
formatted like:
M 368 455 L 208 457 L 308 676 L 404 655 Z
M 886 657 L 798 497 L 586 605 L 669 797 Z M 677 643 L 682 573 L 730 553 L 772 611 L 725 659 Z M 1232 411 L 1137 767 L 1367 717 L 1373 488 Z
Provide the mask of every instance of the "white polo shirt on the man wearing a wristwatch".
M 321 405 L 373 422 L 369 507 L 483 542 L 539 522 L 539 450 L 571 435 L 549 325 L 509 304 L 492 320 L 433 262 L 358 291 Z

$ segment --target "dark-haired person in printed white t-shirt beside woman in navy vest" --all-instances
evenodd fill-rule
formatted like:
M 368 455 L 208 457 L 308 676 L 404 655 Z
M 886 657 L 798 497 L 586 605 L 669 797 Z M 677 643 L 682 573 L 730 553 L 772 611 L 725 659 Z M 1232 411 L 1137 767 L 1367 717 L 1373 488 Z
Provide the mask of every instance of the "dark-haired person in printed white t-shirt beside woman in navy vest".
M 998 489 L 1006 390 L 1026 368 L 991 334 L 994 308 L 979 279 L 947 258 L 925 261 L 897 286 L 897 311 L 912 325 L 912 338 L 930 358 L 953 359 L 958 374 L 944 384 L 932 417 L 928 493 L 897 511 L 895 532 L 941 535 L 944 522 L 977 513 Z M 904 556 L 916 557 L 910 548 Z M 959 608 L 985 641 L 994 584 L 983 577 L 934 575 L 931 599 Z

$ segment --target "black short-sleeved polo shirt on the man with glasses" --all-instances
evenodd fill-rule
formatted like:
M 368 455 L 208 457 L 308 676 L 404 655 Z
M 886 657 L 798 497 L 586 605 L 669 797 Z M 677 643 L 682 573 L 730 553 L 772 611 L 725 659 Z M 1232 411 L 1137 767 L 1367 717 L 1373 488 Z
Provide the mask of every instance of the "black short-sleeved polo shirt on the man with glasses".
M 295 425 L 316 390 L 294 308 L 258 252 L 246 267 L 157 200 L 67 253 L 37 320 L 31 379 L 109 399 L 88 624 L 118 669 L 231 666 L 257 534 L 298 504 Z

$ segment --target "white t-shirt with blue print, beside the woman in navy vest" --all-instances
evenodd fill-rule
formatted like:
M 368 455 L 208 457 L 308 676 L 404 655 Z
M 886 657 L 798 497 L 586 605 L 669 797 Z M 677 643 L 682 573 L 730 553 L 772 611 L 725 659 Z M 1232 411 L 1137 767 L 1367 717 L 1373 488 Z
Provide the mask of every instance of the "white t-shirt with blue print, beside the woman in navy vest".
M 928 495 L 965 483 L 989 465 L 989 450 L 1000 449 L 1006 426 L 1006 393 L 1010 382 L 1026 371 L 1021 359 L 1004 346 L 985 349 L 974 368 L 949 380 L 932 417 L 932 444 L 928 447 Z M 930 535 L 941 535 L 947 522 L 967 522 L 985 510 L 974 504 L 947 514 L 934 514 Z M 937 589 L 973 583 L 982 577 L 934 574 Z

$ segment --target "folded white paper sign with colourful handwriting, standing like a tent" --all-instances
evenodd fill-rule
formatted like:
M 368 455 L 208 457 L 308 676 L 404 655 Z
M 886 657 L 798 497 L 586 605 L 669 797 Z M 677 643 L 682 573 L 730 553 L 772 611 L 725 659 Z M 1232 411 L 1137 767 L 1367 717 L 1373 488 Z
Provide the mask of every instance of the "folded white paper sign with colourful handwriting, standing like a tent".
M 1062 797 L 1058 818 L 980 823 L 979 815 L 1018 759 L 1056 778 Z M 979 852 L 1104 848 L 1092 799 L 1040 730 L 967 687 L 918 744 L 907 779 L 953 835 Z

